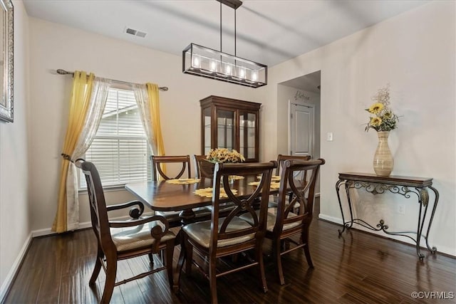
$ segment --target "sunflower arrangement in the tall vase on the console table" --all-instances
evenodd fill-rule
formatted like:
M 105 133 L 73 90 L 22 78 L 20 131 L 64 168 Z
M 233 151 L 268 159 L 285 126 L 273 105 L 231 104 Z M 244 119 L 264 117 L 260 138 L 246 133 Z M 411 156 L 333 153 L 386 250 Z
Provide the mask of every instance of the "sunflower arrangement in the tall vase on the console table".
M 370 117 L 366 125 L 366 132 L 369 129 L 375 131 L 390 131 L 396 128 L 399 120 L 398 115 L 395 115 L 389 108 L 390 105 L 390 87 L 386 85 L 380 88 L 377 94 L 373 95 L 372 100 L 375 101 L 371 107 L 366 109 L 373 116 Z

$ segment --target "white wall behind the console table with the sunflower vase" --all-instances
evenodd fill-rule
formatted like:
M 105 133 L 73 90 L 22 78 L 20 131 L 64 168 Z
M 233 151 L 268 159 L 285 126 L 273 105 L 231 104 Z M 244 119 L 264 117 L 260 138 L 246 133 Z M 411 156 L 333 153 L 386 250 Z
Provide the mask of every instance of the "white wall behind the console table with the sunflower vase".
M 432 1 L 270 69 L 265 134 L 277 134 L 277 83 L 321 70 L 321 217 L 341 220 L 334 185 L 338 172 L 371 172 L 377 145 L 365 132 L 371 96 L 390 83 L 391 106 L 401 115 L 390 132 L 393 174 L 432 177 L 440 201 L 430 244 L 456 256 L 455 239 L 455 1 Z M 269 112 L 269 110 L 274 112 Z M 333 132 L 333 142 L 323 138 Z M 432 192 L 430 192 L 432 197 Z M 356 212 L 371 224 L 385 219 L 390 231 L 416 229 L 416 196 L 360 193 Z M 389 199 L 389 201 L 388 201 Z M 375 203 L 375 204 L 374 204 Z M 397 205 L 405 204 L 405 215 Z M 378 213 L 376 213 L 378 212 Z M 334 231 L 337 234 L 337 231 Z M 383 234 L 385 235 L 385 234 Z M 407 239 L 398 237 L 406 241 Z

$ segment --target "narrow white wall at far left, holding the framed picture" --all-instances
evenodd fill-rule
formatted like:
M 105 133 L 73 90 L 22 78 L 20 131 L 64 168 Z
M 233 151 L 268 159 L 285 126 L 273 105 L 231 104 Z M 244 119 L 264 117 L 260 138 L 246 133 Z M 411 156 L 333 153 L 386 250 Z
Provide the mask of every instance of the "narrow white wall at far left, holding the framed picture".
M 28 211 L 28 16 L 14 1 L 14 122 L 0 122 L 0 302 L 30 240 Z M 28 240 L 28 241 L 27 241 Z

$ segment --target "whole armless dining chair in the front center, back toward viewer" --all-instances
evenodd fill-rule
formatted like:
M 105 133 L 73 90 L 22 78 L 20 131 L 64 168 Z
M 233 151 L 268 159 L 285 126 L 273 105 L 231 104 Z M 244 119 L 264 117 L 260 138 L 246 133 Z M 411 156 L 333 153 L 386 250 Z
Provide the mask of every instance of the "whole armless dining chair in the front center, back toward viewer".
M 185 262 L 185 273 L 190 276 L 192 265 L 209 279 L 211 302 L 217 303 L 217 278 L 235 271 L 257 266 L 261 286 L 266 293 L 266 277 L 263 263 L 263 240 L 266 228 L 266 211 L 269 198 L 269 184 L 272 170 L 277 163 L 249 163 L 249 164 L 222 164 L 214 165 L 214 179 L 212 190 L 212 214 L 208 221 L 200 221 L 182 227 L 185 258 L 179 261 L 178 270 L 182 271 Z M 259 185 L 253 193 L 247 196 L 237 196 L 229 183 L 229 175 L 261 175 Z M 223 184 L 223 186 L 222 186 Z M 222 188 L 221 188 L 222 187 Z M 234 186 L 233 186 L 234 187 Z M 225 193 L 227 198 L 221 198 Z M 260 209 L 254 209 L 255 200 L 260 198 Z M 219 204 L 223 201 L 232 201 L 236 207 L 225 217 L 219 214 Z M 252 223 L 239 219 L 239 215 L 246 213 L 252 216 Z M 236 253 L 245 253 L 253 250 L 254 258 L 246 259 L 242 265 L 234 264 L 229 270 L 217 269 L 217 261 Z M 193 259 L 194 252 L 197 256 L 205 257 Z M 240 259 L 238 259 L 239 262 Z

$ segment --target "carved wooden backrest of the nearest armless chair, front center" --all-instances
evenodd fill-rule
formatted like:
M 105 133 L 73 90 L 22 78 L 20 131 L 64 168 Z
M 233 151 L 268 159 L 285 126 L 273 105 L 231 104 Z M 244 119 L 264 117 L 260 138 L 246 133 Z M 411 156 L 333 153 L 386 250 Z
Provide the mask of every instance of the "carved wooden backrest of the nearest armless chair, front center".
M 266 214 L 269 201 L 269 186 L 271 184 L 272 170 L 277 166 L 277 162 L 263 162 L 263 163 L 249 163 L 249 164 L 222 164 L 217 163 L 214 167 L 213 191 L 212 191 L 212 227 L 219 227 L 219 229 L 211 229 L 211 238 L 209 246 L 212 248 L 217 247 L 217 242 L 220 240 L 227 241 L 228 239 L 242 238 L 252 236 L 254 234 L 255 241 L 261 241 L 264 238 L 266 230 Z M 261 176 L 261 180 L 254 193 L 249 197 L 240 198 L 239 194 L 233 194 L 232 188 L 236 189 L 237 183 L 229 183 L 230 175 L 238 175 L 247 177 Z M 221 185 L 223 184 L 223 191 L 227 194 L 227 198 L 220 199 L 219 194 Z M 253 187 L 253 186 L 252 186 Z M 258 204 L 257 199 L 260 199 L 259 216 L 255 212 L 254 206 Z M 225 201 L 232 201 L 235 205 L 234 209 L 225 216 L 219 218 L 219 206 Z M 254 224 L 247 229 L 232 229 L 229 224 L 237 216 L 248 212 L 254 219 Z M 250 238 L 251 239 L 251 238 Z

